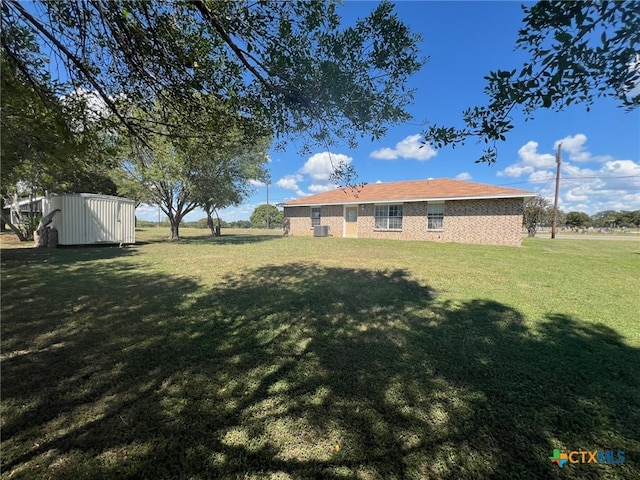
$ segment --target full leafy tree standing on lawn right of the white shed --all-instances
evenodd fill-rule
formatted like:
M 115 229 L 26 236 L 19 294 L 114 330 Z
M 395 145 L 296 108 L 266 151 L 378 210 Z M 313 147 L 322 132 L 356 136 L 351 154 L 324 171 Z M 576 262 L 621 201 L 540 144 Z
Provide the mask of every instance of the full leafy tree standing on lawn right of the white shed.
M 228 105 L 194 95 L 201 97 L 202 108 L 185 126 L 169 130 L 161 125 L 177 121 L 159 107 L 153 113 L 140 111 L 138 118 L 163 130 L 144 140 L 124 136 L 121 141 L 121 185 L 135 186 L 140 199 L 159 206 L 169 219 L 172 240 L 179 239 L 180 223 L 197 207 L 212 222 L 217 209 L 240 203 L 251 192 L 251 180 L 265 177 L 271 146 L 263 131 Z

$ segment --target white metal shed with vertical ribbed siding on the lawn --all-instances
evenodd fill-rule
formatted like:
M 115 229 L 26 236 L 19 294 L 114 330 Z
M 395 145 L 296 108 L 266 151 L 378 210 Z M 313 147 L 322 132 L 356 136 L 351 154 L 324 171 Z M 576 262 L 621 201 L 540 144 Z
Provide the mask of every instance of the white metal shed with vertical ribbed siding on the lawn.
M 50 195 L 43 215 L 58 209 L 51 227 L 59 245 L 135 243 L 135 201 L 111 195 L 76 193 Z

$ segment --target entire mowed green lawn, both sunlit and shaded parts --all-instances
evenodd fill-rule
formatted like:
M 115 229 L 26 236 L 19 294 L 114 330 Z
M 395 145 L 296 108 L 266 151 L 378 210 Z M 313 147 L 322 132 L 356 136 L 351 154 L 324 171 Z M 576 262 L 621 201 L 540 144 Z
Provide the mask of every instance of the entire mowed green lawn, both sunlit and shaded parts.
M 167 233 L 3 242 L 2 478 L 640 477 L 640 242 Z

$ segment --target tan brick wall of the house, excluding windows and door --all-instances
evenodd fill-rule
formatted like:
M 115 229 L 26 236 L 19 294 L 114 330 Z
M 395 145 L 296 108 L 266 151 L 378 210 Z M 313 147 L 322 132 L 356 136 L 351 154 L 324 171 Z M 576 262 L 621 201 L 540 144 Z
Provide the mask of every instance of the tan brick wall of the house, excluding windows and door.
M 444 228 L 429 231 L 427 202 L 410 202 L 404 204 L 402 231 L 390 231 L 375 230 L 374 205 L 362 204 L 358 206 L 358 237 L 519 246 L 523 208 L 522 198 L 451 200 L 445 202 Z M 342 212 L 342 205 L 322 207 L 320 223 L 329 225 L 329 235 L 342 237 Z M 285 216 L 289 235 L 313 235 L 310 207 L 286 207 Z

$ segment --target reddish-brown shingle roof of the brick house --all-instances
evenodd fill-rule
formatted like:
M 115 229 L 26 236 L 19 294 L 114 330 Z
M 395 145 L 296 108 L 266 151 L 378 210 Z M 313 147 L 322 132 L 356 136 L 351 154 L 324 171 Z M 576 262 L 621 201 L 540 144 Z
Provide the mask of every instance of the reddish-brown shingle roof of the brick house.
M 424 201 L 465 198 L 518 198 L 536 194 L 515 188 L 495 187 L 482 183 L 448 178 L 411 180 L 406 182 L 372 183 L 360 189 L 335 189 L 284 202 L 285 207 L 302 205 L 339 205 L 393 201 Z

